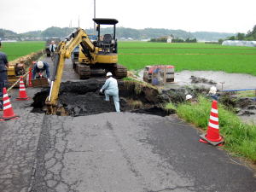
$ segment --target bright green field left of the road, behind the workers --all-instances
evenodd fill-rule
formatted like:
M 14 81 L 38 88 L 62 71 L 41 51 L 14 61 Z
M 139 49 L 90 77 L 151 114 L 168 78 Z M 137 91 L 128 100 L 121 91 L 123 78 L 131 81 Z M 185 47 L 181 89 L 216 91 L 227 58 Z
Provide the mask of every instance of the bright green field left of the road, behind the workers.
M 44 41 L 3 42 L 0 51 L 7 55 L 9 61 L 13 61 L 20 56 L 28 55 L 32 52 L 44 49 L 44 44 Z

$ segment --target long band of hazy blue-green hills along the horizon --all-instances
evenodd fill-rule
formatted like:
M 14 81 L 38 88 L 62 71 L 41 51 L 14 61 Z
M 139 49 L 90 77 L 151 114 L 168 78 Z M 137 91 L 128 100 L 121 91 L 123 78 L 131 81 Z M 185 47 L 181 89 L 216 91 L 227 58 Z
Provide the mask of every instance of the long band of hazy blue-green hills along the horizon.
M 73 32 L 75 28 L 69 27 L 56 27 L 51 26 L 44 31 L 33 31 L 16 33 L 10 30 L 0 29 L 0 38 L 2 39 L 21 39 L 21 38 L 65 38 L 68 34 Z M 112 33 L 112 27 L 102 28 L 102 33 Z M 93 29 L 85 29 L 87 34 L 93 34 Z M 163 28 L 145 28 L 145 29 L 132 29 L 125 27 L 117 27 L 116 36 L 119 39 L 150 39 L 161 38 L 166 36 L 174 36 L 175 38 L 196 38 L 198 41 L 218 41 L 219 38 L 228 38 L 236 35 L 235 33 L 227 32 L 186 32 L 183 30 L 172 30 Z

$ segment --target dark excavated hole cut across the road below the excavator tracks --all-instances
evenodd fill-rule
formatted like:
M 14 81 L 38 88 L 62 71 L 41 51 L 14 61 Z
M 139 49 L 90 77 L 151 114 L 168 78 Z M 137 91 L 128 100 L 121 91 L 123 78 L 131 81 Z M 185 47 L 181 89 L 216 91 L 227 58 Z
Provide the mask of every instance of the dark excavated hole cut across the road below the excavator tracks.
M 88 79 L 79 82 L 61 83 L 59 110 L 57 115 L 85 116 L 97 113 L 115 112 L 113 99 L 106 102 L 99 90 L 104 79 Z M 44 101 L 49 96 L 49 88 L 42 89 L 33 97 L 32 113 L 45 113 Z M 169 100 L 169 99 L 168 99 Z M 166 110 L 159 90 L 132 81 L 119 80 L 119 104 L 121 112 L 147 113 L 166 116 L 175 113 Z M 168 102 L 168 101 L 166 101 Z

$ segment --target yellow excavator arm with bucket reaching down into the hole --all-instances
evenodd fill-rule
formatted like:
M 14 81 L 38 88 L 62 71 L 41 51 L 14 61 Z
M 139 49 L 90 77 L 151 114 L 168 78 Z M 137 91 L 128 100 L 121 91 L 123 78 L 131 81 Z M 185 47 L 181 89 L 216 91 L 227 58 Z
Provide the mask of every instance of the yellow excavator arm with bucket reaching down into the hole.
M 54 70 L 50 78 L 49 96 L 46 98 L 45 104 L 47 105 L 47 113 L 55 114 L 58 107 L 58 96 L 61 86 L 61 78 L 65 65 L 65 60 L 70 58 L 73 49 L 77 45 L 81 45 L 84 55 L 90 61 L 95 61 L 95 55 L 98 49 L 91 43 L 90 38 L 83 29 L 78 28 L 75 32 L 71 33 L 65 41 L 61 41 L 55 52 Z

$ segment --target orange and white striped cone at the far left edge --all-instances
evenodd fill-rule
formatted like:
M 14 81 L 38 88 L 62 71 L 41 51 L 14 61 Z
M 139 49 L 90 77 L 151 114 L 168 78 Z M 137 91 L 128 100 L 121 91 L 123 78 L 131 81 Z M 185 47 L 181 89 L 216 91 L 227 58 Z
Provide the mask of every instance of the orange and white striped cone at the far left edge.
M 6 88 L 3 88 L 3 117 L 0 118 L 0 121 L 9 120 L 9 119 L 17 119 L 17 116 L 14 113 L 13 107 L 9 101 L 9 96 L 7 94 Z

